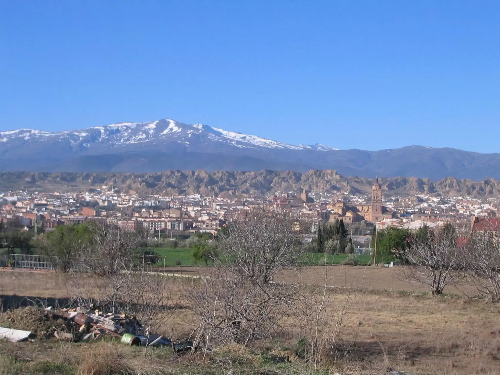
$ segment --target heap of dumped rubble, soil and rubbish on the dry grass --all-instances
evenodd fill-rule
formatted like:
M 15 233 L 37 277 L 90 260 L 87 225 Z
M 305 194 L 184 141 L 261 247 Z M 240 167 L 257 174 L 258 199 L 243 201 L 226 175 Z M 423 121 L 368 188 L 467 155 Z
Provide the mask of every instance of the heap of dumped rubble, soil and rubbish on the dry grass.
M 137 318 L 126 313 L 105 313 L 85 307 L 57 310 L 23 307 L 0 315 L 0 338 L 14 342 L 51 337 L 70 341 L 97 340 L 105 335 L 115 336 L 129 345 L 169 345 L 174 352 L 191 350 L 193 346 L 187 339 L 172 341 L 151 333 Z

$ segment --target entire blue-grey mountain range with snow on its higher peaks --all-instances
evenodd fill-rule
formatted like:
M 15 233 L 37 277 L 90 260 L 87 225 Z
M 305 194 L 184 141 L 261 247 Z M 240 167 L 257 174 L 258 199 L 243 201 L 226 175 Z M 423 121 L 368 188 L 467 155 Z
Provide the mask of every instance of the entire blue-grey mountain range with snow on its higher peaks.
M 172 119 L 57 132 L 0 132 L 1 171 L 150 173 L 197 169 L 335 169 L 342 175 L 365 178 L 422 176 L 438 180 L 452 176 L 480 180 L 500 179 L 500 154 L 426 146 L 364 151 L 319 143 L 292 145 Z

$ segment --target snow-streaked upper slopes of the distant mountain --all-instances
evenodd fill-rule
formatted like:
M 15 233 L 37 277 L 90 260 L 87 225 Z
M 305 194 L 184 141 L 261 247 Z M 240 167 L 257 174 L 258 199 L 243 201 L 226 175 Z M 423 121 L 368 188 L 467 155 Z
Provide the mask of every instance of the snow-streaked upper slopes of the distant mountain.
M 141 145 L 156 148 L 166 143 L 178 142 L 184 146 L 201 140 L 222 142 L 240 148 L 315 149 L 333 150 L 322 144 L 298 146 L 256 135 L 227 131 L 203 124 L 185 124 L 166 118 L 150 122 L 119 122 L 107 126 L 93 126 L 80 130 L 42 131 L 33 129 L 8 130 L 0 132 L 0 149 L 10 144 L 27 145 L 32 142 L 63 142 L 78 153 L 91 152 L 93 148 L 124 148 Z

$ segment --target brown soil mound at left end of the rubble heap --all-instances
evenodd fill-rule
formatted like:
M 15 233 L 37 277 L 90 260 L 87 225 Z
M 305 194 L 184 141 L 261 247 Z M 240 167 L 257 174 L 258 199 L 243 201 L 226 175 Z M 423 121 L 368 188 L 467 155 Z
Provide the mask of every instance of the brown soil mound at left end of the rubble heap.
M 73 324 L 56 311 L 36 307 L 20 307 L 0 314 L 0 326 L 29 330 L 36 338 L 54 337 L 56 330 L 72 332 Z

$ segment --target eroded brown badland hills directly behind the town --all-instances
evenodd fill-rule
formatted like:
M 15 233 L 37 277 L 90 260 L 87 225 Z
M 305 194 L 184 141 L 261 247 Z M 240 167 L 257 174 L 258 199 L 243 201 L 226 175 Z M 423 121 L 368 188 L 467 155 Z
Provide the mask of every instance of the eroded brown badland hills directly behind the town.
M 379 178 L 385 197 L 391 195 L 434 194 L 473 197 L 500 196 L 500 181 L 481 181 L 454 177 L 431 181 L 416 177 Z M 194 194 L 228 196 L 298 191 L 301 188 L 324 192 L 369 194 L 374 179 L 344 177 L 335 170 L 261 170 L 229 172 L 168 170 L 159 173 L 78 173 L 78 172 L 0 172 L 0 190 L 81 191 L 88 188 L 117 189 L 141 195 Z M 104 187 L 103 187 L 104 186 Z

